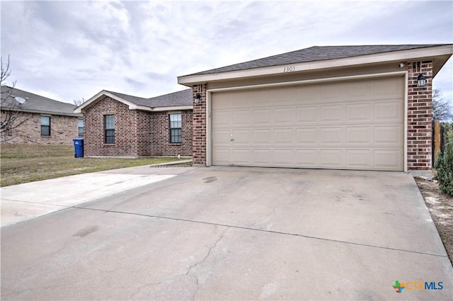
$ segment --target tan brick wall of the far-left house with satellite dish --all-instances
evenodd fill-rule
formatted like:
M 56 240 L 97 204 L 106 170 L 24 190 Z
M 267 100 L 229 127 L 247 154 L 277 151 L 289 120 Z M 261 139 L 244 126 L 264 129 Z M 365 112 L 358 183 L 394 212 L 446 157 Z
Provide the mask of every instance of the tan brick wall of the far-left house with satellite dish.
M 1 111 L 3 120 L 4 111 Z M 41 115 L 50 116 L 50 136 L 41 136 Z M 16 123 L 25 120 L 20 126 L 3 132 L 2 143 L 5 144 L 52 144 L 71 145 L 79 137 L 79 117 L 18 112 Z

